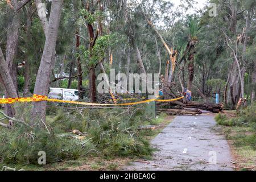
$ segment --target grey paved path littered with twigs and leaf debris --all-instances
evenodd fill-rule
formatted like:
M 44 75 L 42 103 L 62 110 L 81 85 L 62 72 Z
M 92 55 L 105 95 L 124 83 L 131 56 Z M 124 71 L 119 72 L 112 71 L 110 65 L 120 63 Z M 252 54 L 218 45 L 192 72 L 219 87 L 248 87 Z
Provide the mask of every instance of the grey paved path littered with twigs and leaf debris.
M 155 139 L 159 151 L 147 163 L 134 162 L 125 170 L 233 170 L 228 142 L 213 114 L 177 116 Z M 214 160 L 216 159 L 216 160 Z M 216 164 L 214 164 L 216 161 Z

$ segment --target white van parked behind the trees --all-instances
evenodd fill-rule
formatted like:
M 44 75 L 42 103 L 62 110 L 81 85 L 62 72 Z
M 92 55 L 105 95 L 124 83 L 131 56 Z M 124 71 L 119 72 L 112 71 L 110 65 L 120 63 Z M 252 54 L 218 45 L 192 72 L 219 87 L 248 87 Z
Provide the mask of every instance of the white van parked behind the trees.
M 49 88 L 48 98 L 59 99 L 64 101 L 78 101 L 79 90 L 63 89 L 63 88 Z

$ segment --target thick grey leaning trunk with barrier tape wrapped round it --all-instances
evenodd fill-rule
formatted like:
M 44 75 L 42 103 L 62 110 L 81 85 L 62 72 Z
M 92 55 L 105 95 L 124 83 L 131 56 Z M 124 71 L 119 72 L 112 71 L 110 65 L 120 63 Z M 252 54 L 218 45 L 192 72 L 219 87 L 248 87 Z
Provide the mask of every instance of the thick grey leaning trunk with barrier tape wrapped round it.
M 49 89 L 52 61 L 54 60 L 53 57 L 55 56 L 55 47 L 57 42 L 62 5 L 63 0 L 52 0 L 47 38 L 46 43 L 44 44 L 44 51 L 40 62 L 38 75 L 36 76 L 34 94 L 46 96 Z M 46 102 L 34 102 L 32 115 L 34 118 L 36 116 L 39 117 L 39 126 L 44 126 L 43 122 L 46 121 Z

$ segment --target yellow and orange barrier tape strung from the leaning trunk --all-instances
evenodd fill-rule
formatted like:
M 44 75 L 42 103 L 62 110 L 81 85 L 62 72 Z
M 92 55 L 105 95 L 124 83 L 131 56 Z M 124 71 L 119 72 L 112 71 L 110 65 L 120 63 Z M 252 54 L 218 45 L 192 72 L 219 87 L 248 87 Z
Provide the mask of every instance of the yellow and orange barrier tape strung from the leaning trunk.
M 77 101 L 64 101 L 64 100 L 57 100 L 52 98 L 47 98 L 47 96 L 40 96 L 34 94 L 33 97 L 21 97 L 21 98 L 0 98 L 0 104 L 14 104 L 15 102 L 40 102 L 40 101 L 47 101 L 47 102 L 61 102 L 61 103 L 69 103 L 69 104 L 77 104 L 77 105 L 89 105 L 89 106 L 128 106 L 128 105 L 137 105 L 137 104 L 144 104 L 148 102 L 174 102 L 177 100 L 181 100 L 183 97 L 174 98 L 170 100 L 159 100 L 159 99 L 150 99 L 145 101 L 139 102 L 130 102 L 130 103 L 123 103 L 123 104 L 97 104 L 97 103 L 90 103 L 90 102 L 77 102 Z

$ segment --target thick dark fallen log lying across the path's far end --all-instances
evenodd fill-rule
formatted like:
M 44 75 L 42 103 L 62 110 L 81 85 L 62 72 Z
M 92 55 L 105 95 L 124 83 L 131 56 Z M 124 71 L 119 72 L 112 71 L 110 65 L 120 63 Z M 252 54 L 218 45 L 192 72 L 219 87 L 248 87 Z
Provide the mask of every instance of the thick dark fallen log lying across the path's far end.
M 200 102 L 194 102 L 192 101 L 191 103 L 183 103 L 180 101 L 175 101 L 174 104 L 176 105 L 180 105 L 183 107 L 187 107 L 187 108 L 196 108 L 196 109 L 203 109 L 203 110 L 207 110 L 210 111 L 212 113 L 220 113 L 220 111 L 223 110 L 223 105 L 222 104 L 208 104 L 208 103 L 200 103 Z

